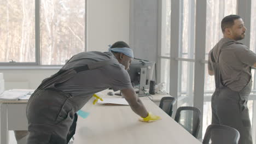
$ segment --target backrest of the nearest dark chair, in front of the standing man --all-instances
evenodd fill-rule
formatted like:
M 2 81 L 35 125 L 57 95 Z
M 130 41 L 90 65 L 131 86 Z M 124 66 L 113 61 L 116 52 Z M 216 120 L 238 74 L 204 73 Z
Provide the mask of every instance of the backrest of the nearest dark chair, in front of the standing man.
M 211 124 L 207 127 L 203 144 L 237 144 L 240 138 L 239 132 L 226 125 Z

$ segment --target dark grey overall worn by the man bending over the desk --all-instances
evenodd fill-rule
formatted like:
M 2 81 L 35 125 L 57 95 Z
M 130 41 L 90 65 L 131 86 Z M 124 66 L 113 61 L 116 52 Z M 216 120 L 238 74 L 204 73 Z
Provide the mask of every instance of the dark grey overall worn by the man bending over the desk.
M 72 62 L 75 63 L 75 61 Z M 60 91 L 56 88 L 57 85 L 71 79 L 80 71 L 103 67 L 111 63 L 113 60 L 95 62 L 67 70 L 61 69 L 58 73 L 43 80 L 28 100 L 27 119 L 30 134 L 27 144 L 67 143 L 71 125 L 73 126 L 74 119 L 77 118 L 75 112 L 83 105 L 74 105 L 72 95 Z

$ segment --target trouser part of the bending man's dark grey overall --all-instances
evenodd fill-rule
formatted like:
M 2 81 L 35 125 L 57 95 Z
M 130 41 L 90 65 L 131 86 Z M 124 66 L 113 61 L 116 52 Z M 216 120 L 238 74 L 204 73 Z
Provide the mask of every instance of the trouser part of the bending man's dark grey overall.
M 74 119 L 72 97 L 50 89 L 31 95 L 27 104 L 27 144 L 64 144 Z

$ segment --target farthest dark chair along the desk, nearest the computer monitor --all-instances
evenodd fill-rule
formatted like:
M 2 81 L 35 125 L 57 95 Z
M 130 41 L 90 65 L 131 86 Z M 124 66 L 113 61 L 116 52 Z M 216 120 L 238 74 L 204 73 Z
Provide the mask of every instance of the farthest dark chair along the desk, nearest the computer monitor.
M 174 102 L 175 102 L 175 98 L 173 97 L 162 97 L 160 100 L 159 107 L 171 117 L 172 107 Z

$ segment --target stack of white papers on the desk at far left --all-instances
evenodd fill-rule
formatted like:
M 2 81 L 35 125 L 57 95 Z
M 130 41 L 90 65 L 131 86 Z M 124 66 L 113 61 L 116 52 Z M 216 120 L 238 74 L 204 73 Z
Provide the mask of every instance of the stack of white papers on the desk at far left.
M 28 100 L 34 89 L 10 89 L 0 95 L 0 100 Z

